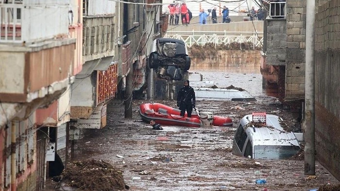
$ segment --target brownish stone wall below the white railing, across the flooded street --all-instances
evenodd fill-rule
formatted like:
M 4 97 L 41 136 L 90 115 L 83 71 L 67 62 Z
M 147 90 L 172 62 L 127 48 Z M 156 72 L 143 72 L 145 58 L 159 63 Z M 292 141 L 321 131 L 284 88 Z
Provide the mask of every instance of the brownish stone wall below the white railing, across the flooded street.
M 191 66 L 239 66 L 240 64 L 260 64 L 261 53 L 259 50 L 218 50 L 216 55 L 206 56 L 206 58 L 191 58 Z

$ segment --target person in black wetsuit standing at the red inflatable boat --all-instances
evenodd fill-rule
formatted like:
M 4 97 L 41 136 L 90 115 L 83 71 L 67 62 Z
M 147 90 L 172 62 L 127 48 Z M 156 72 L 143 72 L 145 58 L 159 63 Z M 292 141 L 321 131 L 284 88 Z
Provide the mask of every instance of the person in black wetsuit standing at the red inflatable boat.
M 178 91 L 177 107 L 181 110 L 181 116 L 187 110 L 188 117 L 191 117 L 192 108 L 196 108 L 195 91 L 189 86 L 189 80 L 184 80 L 184 86 Z

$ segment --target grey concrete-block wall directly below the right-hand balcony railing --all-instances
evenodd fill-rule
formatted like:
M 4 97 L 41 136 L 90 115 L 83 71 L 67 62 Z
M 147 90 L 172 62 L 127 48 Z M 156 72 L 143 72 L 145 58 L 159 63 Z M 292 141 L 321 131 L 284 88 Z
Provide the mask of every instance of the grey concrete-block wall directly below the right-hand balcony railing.
M 286 19 L 267 19 L 267 65 L 286 65 Z

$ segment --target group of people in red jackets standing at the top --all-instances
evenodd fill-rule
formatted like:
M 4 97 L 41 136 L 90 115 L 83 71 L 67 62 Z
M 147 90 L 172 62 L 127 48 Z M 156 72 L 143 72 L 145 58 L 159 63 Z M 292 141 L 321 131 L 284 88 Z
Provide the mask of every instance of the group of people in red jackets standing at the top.
M 192 18 L 191 11 L 187 8 L 187 4 L 183 2 L 181 5 L 174 1 L 168 6 L 170 11 L 170 25 L 178 25 L 181 18 L 183 25 L 188 25 Z

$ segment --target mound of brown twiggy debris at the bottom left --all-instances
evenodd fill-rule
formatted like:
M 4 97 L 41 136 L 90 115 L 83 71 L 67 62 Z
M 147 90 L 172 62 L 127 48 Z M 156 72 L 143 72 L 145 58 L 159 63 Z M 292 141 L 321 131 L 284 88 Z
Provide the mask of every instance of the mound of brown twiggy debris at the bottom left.
M 64 170 L 62 185 L 90 191 L 114 191 L 129 189 L 122 171 L 102 160 L 74 161 Z

